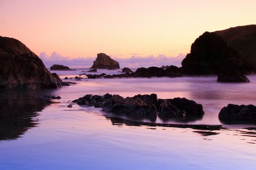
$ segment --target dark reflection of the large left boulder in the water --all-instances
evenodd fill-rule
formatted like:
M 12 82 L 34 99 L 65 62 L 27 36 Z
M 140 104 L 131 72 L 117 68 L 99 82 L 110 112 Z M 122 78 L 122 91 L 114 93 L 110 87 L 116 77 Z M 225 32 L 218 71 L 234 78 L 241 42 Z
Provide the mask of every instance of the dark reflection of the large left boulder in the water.
M 0 140 L 16 139 L 35 127 L 37 112 L 51 103 L 40 96 L 36 91 L 0 91 Z

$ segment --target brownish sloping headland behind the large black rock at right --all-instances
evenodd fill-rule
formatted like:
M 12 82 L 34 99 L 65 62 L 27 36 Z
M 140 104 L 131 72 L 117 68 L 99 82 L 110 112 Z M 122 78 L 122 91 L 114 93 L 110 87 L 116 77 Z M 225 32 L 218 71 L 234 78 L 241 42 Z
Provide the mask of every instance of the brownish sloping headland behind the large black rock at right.
M 214 33 L 227 41 L 229 47 L 235 48 L 241 57 L 256 65 L 256 25 L 237 26 Z

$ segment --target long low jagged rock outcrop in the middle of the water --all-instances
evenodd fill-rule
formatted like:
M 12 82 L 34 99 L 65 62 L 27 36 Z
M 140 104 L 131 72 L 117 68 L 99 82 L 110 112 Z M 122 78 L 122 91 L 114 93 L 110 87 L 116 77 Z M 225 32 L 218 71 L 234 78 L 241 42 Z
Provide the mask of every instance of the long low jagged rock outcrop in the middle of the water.
M 78 105 L 94 106 L 103 111 L 121 115 L 166 118 L 191 118 L 204 115 L 203 106 L 186 98 L 157 99 L 156 94 L 136 95 L 123 98 L 119 95 L 104 96 L 87 94 L 74 100 Z

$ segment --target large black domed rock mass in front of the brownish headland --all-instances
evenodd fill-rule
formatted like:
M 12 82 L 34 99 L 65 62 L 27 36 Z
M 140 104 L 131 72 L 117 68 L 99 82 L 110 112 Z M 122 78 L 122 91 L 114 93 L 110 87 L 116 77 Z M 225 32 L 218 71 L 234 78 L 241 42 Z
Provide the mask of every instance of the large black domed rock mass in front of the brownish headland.
M 205 32 L 191 45 L 191 51 L 181 63 L 182 74 L 218 74 L 222 67 L 250 74 L 255 68 L 215 33 Z

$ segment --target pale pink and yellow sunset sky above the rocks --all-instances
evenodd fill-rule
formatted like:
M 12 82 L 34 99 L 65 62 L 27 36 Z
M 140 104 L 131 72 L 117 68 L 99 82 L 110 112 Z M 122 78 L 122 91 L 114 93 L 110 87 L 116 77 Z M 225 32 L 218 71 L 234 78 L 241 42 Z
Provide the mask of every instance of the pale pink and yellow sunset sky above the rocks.
M 0 36 L 20 40 L 46 65 L 98 53 L 124 66 L 170 65 L 205 31 L 255 24 L 255 7 L 256 0 L 0 0 Z

